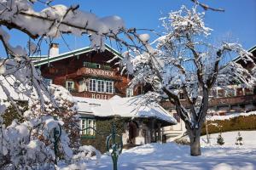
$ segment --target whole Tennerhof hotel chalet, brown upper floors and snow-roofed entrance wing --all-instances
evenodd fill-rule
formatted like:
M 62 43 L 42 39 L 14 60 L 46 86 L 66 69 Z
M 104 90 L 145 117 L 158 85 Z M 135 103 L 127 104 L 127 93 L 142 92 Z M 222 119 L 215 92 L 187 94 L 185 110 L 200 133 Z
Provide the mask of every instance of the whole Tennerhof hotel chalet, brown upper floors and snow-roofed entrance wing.
M 49 51 L 49 57 L 32 58 L 34 64 L 45 82 L 67 88 L 78 100 L 81 128 L 109 131 L 111 122 L 118 122 L 123 143 L 132 145 L 161 140 L 162 127 L 176 124 L 160 105 L 140 104 L 142 97 L 137 95 L 144 94 L 146 88 L 129 88 L 131 77 L 121 75 L 115 65 L 122 58 L 108 45 L 104 52 L 80 48 L 59 54 L 57 44 L 53 44 Z M 81 136 L 83 144 L 104 150 L 101 147 L 105 141 L 92 129 L 84 130 Z

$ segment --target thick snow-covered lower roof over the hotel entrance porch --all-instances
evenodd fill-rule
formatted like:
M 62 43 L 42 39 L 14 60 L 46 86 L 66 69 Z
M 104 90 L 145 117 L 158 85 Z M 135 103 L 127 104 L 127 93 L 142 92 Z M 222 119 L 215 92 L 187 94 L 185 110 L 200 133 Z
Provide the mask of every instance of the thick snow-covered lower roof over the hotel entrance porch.
M 148 117 L 176 124 L 177 121 L 158 104 L 141 105 L 142 96 L 111 99 L 90 99 L 74 97 L 78 102 L 79 113 L 92 116 Z

